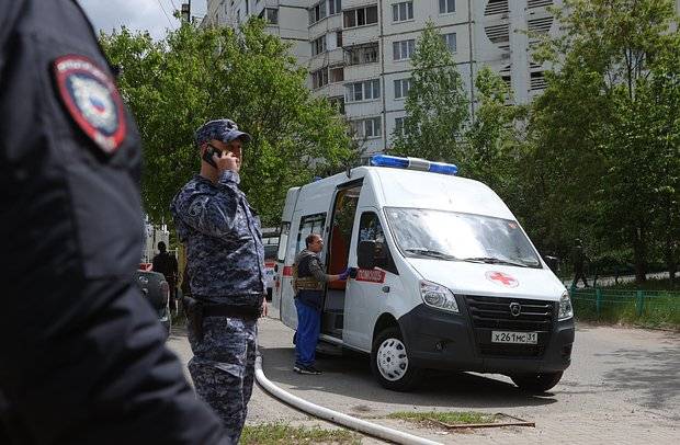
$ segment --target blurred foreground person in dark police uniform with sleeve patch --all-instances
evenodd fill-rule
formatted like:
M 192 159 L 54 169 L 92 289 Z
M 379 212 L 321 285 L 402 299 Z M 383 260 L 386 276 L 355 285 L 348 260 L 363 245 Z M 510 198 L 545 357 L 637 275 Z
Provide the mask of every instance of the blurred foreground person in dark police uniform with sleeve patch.
M 133 278 L 139 137 L 90 23 L 0 11 L 0 443 L 226 443 Z

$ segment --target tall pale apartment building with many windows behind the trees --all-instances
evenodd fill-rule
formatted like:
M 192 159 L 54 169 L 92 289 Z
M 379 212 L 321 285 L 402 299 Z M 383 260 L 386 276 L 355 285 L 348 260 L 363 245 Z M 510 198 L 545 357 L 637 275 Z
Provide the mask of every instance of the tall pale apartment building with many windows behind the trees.
M 680 0 L 679 0 L 680 1 Z M 292 44 L 314 94 L 340 104 L 365 155 L 390 146 L 404 125 L 410 56 L 428 20 L 444 36 L 474 113 L 474 78 L 485 65 L 525 103 L 545 88 L 525 31 L 558 32 L 546 7 L 562 0 L 207 0 L 204 25 L 236 26 L 251 15 Z

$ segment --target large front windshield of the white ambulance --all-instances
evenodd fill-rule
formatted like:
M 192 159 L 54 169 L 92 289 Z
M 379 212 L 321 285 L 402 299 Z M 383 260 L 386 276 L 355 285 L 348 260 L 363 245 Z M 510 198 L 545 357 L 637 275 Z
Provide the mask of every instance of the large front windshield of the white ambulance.
M 385 213 L 406 256 L 541 267 L 517 221 L 419 208 L 387 207 Z

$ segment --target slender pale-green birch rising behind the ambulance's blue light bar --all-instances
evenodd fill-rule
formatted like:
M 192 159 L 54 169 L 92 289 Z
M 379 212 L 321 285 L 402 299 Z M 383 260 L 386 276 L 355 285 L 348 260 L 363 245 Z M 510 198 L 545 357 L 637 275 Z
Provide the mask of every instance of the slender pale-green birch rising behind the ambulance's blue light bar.
M 389 151 L 456 162 L 464 145 L 469 101 L 453 55 L 432 22 L 418 39 L 411 65 L 404 130 L 394 135 Z

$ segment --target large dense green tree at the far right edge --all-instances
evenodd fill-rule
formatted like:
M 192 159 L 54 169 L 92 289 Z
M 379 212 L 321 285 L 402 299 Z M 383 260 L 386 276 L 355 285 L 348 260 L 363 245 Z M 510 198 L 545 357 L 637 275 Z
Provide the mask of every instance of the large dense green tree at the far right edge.
M 536 54 L 555 67 L 531 125 L 533 159 L 549 172 L 546 220 L 560 217 L 564 233 L 586 238 L 599 255 L 632 249 L 644 281 L 656 221 L 677 218 L 677 210 L 665 210 L 673 194 L 677 203 L 670 159 L 678 157 L 678 127 L 665 114 L 677 94 L 668 78 L 680 68 L 665 61 L 678 47 L 673 4 L 565 0 L 564 7 L 556 11 L 564 36 Z

